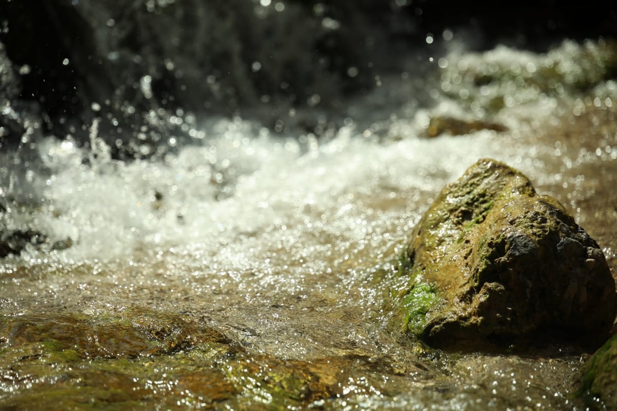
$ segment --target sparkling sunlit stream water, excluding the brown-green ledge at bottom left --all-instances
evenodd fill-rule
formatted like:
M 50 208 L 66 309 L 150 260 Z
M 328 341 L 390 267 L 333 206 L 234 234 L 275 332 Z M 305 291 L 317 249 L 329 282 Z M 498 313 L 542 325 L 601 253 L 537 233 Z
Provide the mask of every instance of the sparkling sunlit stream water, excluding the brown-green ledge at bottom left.
M 575 59 L 580 49 L 568 47 L 562 57 Z M 547 57 L 508 49 L 446 57 L 435 62 L 445 69 L 439 81 L 428 83 L 433 108 L 372 129 L 360 113 L 331 139 L 271 136 L 239 118 L 208 120 L 190 144 L 120 161 L 110 158 L 95 124 L 93 148 L 46 137 L 25 145 L 19 158 L 2 154 L 3 229 L 48 235 L 48 243 L 2 261 L 2 314 L 98 315 L 132 306 L 199 312 L 254 354 L 357 355 L 387 365 L 381 388 L 350 377 L 337 398 L 313 404 L 326 409 L 581 407 L 569 395 L 579 353 L 444 354 L 426 358 L 429 371 L 418 372 L 412 344 L 392 327 L 384 293 L 371 282 L 439 190 L 482 157 L 520 169 L 540 192 L 555 195 L 600 235 L 615 267 L 617 243 L 602 243 L 615 236 L 594 222 L 615 227 L 614 210 L 594 198 L 611 190 L 617 171 L 616 83 L 600 81 L 583 95 L 553 84 L 550 97 L 491 83 L 470 106 L 465 80 L 449 65 L 516 64 L 532 76 Z M 404 84 L 389 79 L 383 87 L 395 94 Z M 462 99 L 447 98 L 453 89 Z M 494 120 L 508 131 L 425 136 L 429 116 L 473 118 L 489 104 L 483 99 L 505 94 L 513 100 L 505 99 Z M 362 101 L 370 107 L 371 96 Z M 57 246 L 63 242 L 70 246 Z M 388 386 L 391 392 L 382 392 Z M 11 384 L 1 388 L 0 397 L 10 398 Z

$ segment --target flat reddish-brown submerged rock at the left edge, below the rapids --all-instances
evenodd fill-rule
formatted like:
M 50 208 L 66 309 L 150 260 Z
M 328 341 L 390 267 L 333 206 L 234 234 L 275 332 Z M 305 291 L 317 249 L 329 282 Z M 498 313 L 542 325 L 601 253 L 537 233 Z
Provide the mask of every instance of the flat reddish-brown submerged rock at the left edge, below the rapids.
M 135 307 L 104 319 L 80 313 L 6 316 L 0 319 L 0 342 L 23 350 L 43 349 L 51 356 L 110 359 L 173 354 L 233 341 L 202 319 Z

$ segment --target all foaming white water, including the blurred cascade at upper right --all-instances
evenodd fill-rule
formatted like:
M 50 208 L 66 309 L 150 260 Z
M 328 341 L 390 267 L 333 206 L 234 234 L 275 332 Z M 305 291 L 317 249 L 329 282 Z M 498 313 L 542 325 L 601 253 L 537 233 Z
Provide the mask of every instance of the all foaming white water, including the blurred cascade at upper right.
M 493 70 L 505 78 L 491 83 L 492 88 L 478 87 L 476 102 L 501 97 L 507 94 L 504 87 L 514 87 L 510 94 L 518 104 L 512 102 L 512 107 L 495 116 L 511 130 L 502 135 L 481 131 L 424 138 L 429 115 L 474 119 L 484 113 L 478 104 L 467 107 L 465 99 L 450 100 L 433 90 L 434 108 L 418 110 L 408 118 L 387 119 L 385 130 L 380 131 L 385 136 L 381 142 L 371 136 L 370 128 L 358 129 L 352 118 L 346 119 L 347 125 L 333 139 L 323 142 L 310 134 L 271 137 L 259 124 L 241 119 L 209 120 L 195 144 L 184 145 L 162 159 L 124 162 L 110 160 L 109 147 L 97 137 L 96 127 L 91 136 L 94 149 L 77 148 L 70 139 L 48 137 L 33 142 L 31 149 L 22 149 L 26 160 L 15 161 L 14 153 L 4 154 L 2 164 L 16 163 L 15 168 L 2 169 L 8 185 L 2 187 L 4 194 L 19 198 L 27 193 L 26 202 L 36 210 L 31 215 L 7 213 L 2 222 L 9 230 L 41 230 L 52 241 L 71 238 L 72 247 L 48 255 L 60 260 L 106 260 L 139 248 L 170 246 L 216 254 L 225 244 L 226 264 L 234 265 L 234 259 L 259 260 L 259 250 L 273 244 L 301 242 L 300 248 L 309 253 L 306 257 L 315 261 L 324 251 L 318 244 L 323 237 L 320 233 L 336 236 L 345 249 L 348 243 L 370 242 L 371 237 L 386 232 L 401 238 L 405 230 L 392 227 L 392 219 L 406 210 L 405 218 L 410 219 L 406 225 L 413 226 L 432 193 L 478 158 L 503 160 L 532 180 L 554 179 L 552 171 L 542 169 L 542 158 L 555 152 L 552 142 L 542 147 L 535 141 L 528 145 L 528 140 L 534 128 L 549 124 L 550 116 L 571 103 L 565 96 L 558 104 L 532 81 L 528 82 L 531 86 L 516 86 L 508 75 L 523 70 L 526 75 L 521 78 L 531 78 L 536 67 L 550 60 L 558 72 L 566 73 L 565 84 L 583 81 L 580 76 L 597 76 L 588 67 L 589 59 L 581 58 L 586 51 L 565 43 L 545 56 L 500 47 L 483 55 L 453 52 L 440 59 L 439 65 L 446 66 L 441 87 L 449 93 L 455 88 L 460 94 L 465 87 L 469 89 L 466 94 L 474 93 L 470 79 L 455 78 L 458 72 Z M 458 68 L 452 71 L 453 66 Z M 397 101 L 402 100 L 402 92 L 410 91 L 405 84 L 402 79 L 390 79 L 382 87 Z M 553 87 L 564 94 L 563 86 Z M 612 81 L 598 86 L 602 105 L 610 104 L 615 88 Z M 383 94 L 378 89 L 366 97 L 366 106 Z M 399 109 L 392 107 L 393 112 Z M 359 113 L 358 119 L 363 116 L 371 113 Z M 391 205 L 396 205 L 393 210 Z M 248 240 L 257 234 L 267 236 Z M 246 241 L 251 242 L 248 250 L 254 251 L 245 256 Z M 307 251 L 313 249 L 314 254 Z M 35 252 L 26 257 L 39 256 Z

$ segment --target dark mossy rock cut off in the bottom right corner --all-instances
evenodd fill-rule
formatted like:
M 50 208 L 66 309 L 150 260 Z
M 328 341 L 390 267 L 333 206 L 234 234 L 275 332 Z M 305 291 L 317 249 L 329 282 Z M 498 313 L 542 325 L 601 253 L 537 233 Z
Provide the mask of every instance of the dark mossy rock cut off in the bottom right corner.
M 605 409 L 617 410 L 616 368 L 617 335 L 613 335 L 582 367 L 578 395 L 592 402 L 599 397 Z

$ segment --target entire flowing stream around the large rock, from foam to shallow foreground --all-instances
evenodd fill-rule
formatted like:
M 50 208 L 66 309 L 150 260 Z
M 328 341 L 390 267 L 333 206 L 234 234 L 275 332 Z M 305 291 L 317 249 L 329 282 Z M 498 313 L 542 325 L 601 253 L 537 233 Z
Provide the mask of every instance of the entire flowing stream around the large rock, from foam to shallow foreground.
M 135 160 L 112 158 L 96 121 L 86 145 L 25 136 L 0 160 L 2 230 L 28 232 L 0 264 L 0 408 L 593 407 L 573 394 L 588 353 L 405 336 L 392 261 L 439 190 L 490 157 L 557 197 L 615 272 L 617 83 L 584 78 L 594 47 L 451 51 L 425 107 L 405 104 L 407 73 L 384 78 L 328 138 L 183 113 L 192 139 Z

